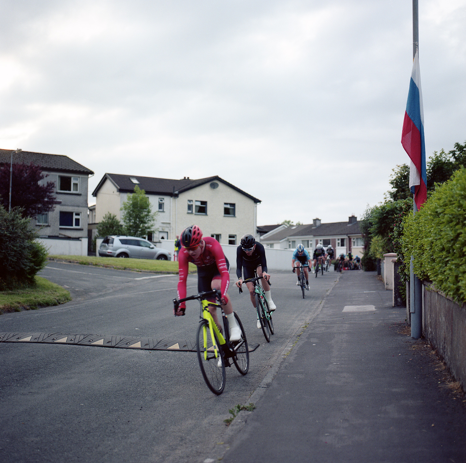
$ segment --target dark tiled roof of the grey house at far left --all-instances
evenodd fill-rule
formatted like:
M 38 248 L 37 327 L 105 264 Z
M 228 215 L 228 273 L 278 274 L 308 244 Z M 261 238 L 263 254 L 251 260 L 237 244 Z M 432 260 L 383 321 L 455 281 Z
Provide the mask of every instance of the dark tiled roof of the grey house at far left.
M 11 151 L 11 149 L 0 149 L 0 164 L 10 163 Z M 30 164 L 31 162 L 36 166 L 40 166 L 42 170 L 94 174 L 92 170 L 63 154 L 33 153 L 31 151 L 21 151 L 21 153 L 13 154 L 14 164 Z

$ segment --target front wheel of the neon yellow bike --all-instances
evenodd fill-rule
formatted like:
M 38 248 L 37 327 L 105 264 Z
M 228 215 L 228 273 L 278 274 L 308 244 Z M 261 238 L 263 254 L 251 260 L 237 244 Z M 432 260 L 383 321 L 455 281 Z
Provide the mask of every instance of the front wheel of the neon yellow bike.
M 215 332 L 213 335 L 215 344 L 212 343 L 212 337 L 210 336 L 209 322 L 202 320 L 199 323 L 197 337 L 199 367 L 209 389 L 214 394 L 219 395 L 225 388 L 225 358 Z

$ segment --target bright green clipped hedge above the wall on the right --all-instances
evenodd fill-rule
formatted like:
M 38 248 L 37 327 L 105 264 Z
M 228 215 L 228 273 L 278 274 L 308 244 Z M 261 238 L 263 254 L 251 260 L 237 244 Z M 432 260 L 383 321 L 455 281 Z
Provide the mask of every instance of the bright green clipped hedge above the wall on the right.
M 431 280 L 457 302 L 466 302 L 466 169 L 436 185 L 435 192 L 413 217 L 404 219 L 404 263 Z

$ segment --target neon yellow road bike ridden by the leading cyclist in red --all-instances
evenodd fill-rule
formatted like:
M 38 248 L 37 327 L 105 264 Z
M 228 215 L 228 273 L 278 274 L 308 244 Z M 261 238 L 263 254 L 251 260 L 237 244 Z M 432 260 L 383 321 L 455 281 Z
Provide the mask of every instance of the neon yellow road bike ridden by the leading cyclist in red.
M 207 386 L 214 394 L 221 394 L 225 389 L 226 367 L 230 367 L 230 361 L 233 361 L 236 369 L 241 375 L 246 375 L 249 369 L 249 349 L 247 347 L 246 333 L 241 324 L 240 317 L 235 313 L 235 319 L 241 329 L 241 339 L 230 342 L 228 319 L 220 304 L 207 301 L 208 297 L 214 296 L 220 301 L 221 293 L 218 289 L 205 291 L 196 295 L 185 297 L 183 299 L 173 299 L 175 312 L 178 310 L 180 302 L 199 300 L 200 303 L 200 321 L 196 338 L 196 349 L 198 354 L 199 366 L 202 376 Z M 214 306 L 222 309 L 223 333 L 213 321 L 212 314 L 208 307 Z

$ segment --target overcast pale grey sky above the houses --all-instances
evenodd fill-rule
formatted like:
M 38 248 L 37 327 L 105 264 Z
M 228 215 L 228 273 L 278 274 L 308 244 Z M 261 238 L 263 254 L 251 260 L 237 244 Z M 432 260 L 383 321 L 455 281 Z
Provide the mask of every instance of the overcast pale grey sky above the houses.
M 466 140 L 465 25 L 419 1 L 428 156 Z M 0 148 L 66 154 L 90 193 L 219 175 L 260 225 L 345 221 L 408 161 L 410 0 L 3 0 L 0 40 Z

